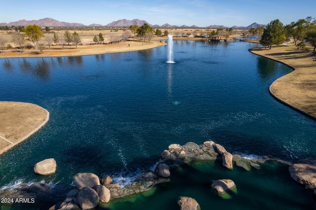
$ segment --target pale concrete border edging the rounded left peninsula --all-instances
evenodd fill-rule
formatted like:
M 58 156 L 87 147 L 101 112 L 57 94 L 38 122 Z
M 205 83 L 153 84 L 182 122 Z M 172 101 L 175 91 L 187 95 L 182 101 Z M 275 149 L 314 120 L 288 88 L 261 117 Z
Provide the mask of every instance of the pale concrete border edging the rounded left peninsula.
M 0 140 L 10 141 L 9 142 L 10 144 L 8 146 L 5 146 L 3 149 L 0 150 L 0 155 L 2 155 L 3 153 L 9 151 L 10 149 L 12 149 L 14 146 L 18 145 L 19 143 L 21 143 L 21 142 L 27 140 L 28 138 L 30 138 L 33 134 L 38 132 L 44 125 L 46 125 L 46 123 L 49 120 L 49 112 L 45 108 L 43 108 L 43 107 L 41 107 L 39 105 L 31 104 L 31 103 L 25 103 L 25 102 L 0 102 L 0 104 L 1 103 L 10 103 L 10 104 L 13 103 L 13 104 L 23 104 L 23 105 L 36 106 L 38 108 L 43 109 L 46 112 L 46 117 L 45 117 L 44 121 L 40 125 L 36 126 L 33 130 L 31 130 L 30 132 L 28 132 L 26 135 L 22 136 L 19 140 L 16 140 L 15 142 L 12 142 L 12 141 L 7 140 L 6 138 L 0 136 Z

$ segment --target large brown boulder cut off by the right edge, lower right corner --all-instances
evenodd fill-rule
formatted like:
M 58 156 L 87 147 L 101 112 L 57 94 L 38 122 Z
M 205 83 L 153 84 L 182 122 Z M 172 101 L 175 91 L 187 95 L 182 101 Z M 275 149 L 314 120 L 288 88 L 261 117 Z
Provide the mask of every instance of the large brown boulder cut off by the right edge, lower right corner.
M 306 187 L 316 190 L 316 160 L 299 160 L 289 167 L 292 178 Z

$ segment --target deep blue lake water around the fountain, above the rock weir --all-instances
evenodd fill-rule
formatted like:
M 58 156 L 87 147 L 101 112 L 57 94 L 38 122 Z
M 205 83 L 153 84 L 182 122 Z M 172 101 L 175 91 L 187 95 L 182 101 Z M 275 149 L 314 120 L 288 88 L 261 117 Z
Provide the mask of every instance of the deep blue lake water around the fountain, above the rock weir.
M 316 122 L 269 94 L 291 69 L 247 51 L 254 43 L 174 41 L 114 54 L 0 59 L 0 101 L 50 112 L 38 133 L 0 157 L 0 186 L 77 173 L 135 175 L 171 143 L 214 140 L 231 152 L 294 161 L 316 156 Z M 55 158 L 55 175 L 34 165 Z

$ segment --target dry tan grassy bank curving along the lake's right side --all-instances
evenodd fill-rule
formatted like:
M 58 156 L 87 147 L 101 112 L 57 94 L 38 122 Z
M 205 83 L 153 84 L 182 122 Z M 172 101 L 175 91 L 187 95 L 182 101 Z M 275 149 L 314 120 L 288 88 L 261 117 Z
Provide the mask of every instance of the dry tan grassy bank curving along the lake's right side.
M 278 101 L 316 119 L 316 63 L 294 46 L 249 49 L 292 68 L 294 71 L 274 81 L 269 91 Z

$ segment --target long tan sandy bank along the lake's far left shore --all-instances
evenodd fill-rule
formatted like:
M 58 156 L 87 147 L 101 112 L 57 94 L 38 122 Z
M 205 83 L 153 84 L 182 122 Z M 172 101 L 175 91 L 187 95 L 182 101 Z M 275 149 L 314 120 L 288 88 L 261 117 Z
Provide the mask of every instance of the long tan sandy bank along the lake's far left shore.
M 140 42 L 140 41 L 132 41 L 132 43 Z M 141 43 L 141 42 L 140 42 Z M 145 42 L 144 42 L 145 43 Z M 148 43 L 148 42 L 147 42 Z M 98 47 L 102 45 L 84 45 L 84 47 L 89 46 L 87 48 L 83 48 L 82 46 L 79 46 L 78 49 L 71 48 L 71 49 L 46 49 L 43 50 L 43 54 L 35 54 L 38 53 L 39 50 L 25 50 L 23 53 L 27 52 L 29 54 L 19 55 L 22 54 L 21 52 L 15 52 L 15 51 L 5 51 L 9 54 L 16 54 L 15 56 L 3 56 L 5 55 L 5 52 L 2 54 L 0 53 L 0 59 L 5 58 L 50 58 L 50 57 L 70 57 L 70 56 L 84 56 L 84 55 L 100 55 L 100 54 L 108 54 L 108 53 L 121 53 L 121 52 L 132 52 L 132 51 L 138 51 L 138 50 L 147 50 L 152 49 L 159 46 L 165 46 L 166 44 L 163 42 L 156 42 L 152 41 L 149 44 L 144 45 L 135 45 L 128 47 L 128 42 L 126 43 L 120 43 L 120 44 L 113 44 L 114 46 L 118 47 L 108 47 L 110 45 L 105 45 L 105 47 Z M 111 46 L 113 46 L 111 45 Z M 95 47 L 97 46 L 97 47 Z M 80 48 L 81 47 L 81 48 Z M 91 52 L 92 51 L 92 52 Z M 56 53 L 57 54 L 52 54 Z M 33 54 L 31 54 L 33 53 Z

